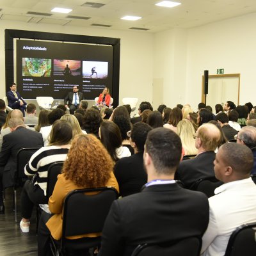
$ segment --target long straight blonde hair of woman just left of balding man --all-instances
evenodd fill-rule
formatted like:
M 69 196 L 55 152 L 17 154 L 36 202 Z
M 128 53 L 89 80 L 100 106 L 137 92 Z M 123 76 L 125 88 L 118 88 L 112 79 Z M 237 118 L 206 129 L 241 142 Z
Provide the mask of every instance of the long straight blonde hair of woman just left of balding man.
M 195 147 L 195 129 L 193 124 L 187 119 L 183 119 L 177 125 L 177 134 L 180 136 L 182 148 L 184 149 L 185 155 L 196 155 L 198 150 Z

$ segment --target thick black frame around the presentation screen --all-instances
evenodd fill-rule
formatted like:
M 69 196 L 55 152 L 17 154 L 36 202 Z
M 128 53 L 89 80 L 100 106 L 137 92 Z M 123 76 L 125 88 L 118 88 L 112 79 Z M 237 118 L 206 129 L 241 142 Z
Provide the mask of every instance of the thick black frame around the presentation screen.
M 14 81 L 14 39 L 49 40 L 58 42 L 74 42 L 83 44 L 100 44 L 113 46 L 113 106 L 119 104 L 119 78 L 120 78 L 120 38 L 103 36 L 71 35 L 62 33 L 50 33 L 40 31 L 28 31 L 18 29 L 4 30 L 5 50 L 5 83 L 6 92 Z

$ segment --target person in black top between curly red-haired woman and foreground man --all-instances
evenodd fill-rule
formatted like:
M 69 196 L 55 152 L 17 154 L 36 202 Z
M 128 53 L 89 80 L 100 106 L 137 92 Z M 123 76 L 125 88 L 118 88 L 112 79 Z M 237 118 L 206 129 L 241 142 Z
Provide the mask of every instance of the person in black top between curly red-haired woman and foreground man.
M 123 157 L 115 164 L 114 173 L 119 184 L 120 195 L 123 197 L 140 192 L 141 187 L 147 182 L 147 173 L 143 166 L 143 152 L 150 130 L 152 128 L 143 122 L 134 124 L 130 137 L 134 155 Z

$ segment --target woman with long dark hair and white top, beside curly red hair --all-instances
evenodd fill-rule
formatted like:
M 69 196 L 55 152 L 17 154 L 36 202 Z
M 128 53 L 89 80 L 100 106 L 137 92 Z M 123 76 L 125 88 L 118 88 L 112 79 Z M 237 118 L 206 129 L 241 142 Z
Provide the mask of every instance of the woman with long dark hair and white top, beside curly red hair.
M 107 120 L 102 122 L 99 129 L 99 137 L 113 161 L 116 162 L 122 157 L 131 156 L 129 148 L 122 146 L 122 136 L 115 123 Z

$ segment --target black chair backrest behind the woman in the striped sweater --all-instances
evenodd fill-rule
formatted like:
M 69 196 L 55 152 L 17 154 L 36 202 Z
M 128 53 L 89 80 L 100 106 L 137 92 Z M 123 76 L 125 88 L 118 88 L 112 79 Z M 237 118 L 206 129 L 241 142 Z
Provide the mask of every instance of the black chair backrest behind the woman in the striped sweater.
M 55 162 L 49 166 L 48 174 L 47 174 L 47 188 L 46 188 L 47 198 L 49 198 L 52 195 L 54 186 L 57 182 L 57 176 L 61 173 L 63 163 L 64 163 L 63 161 Z

